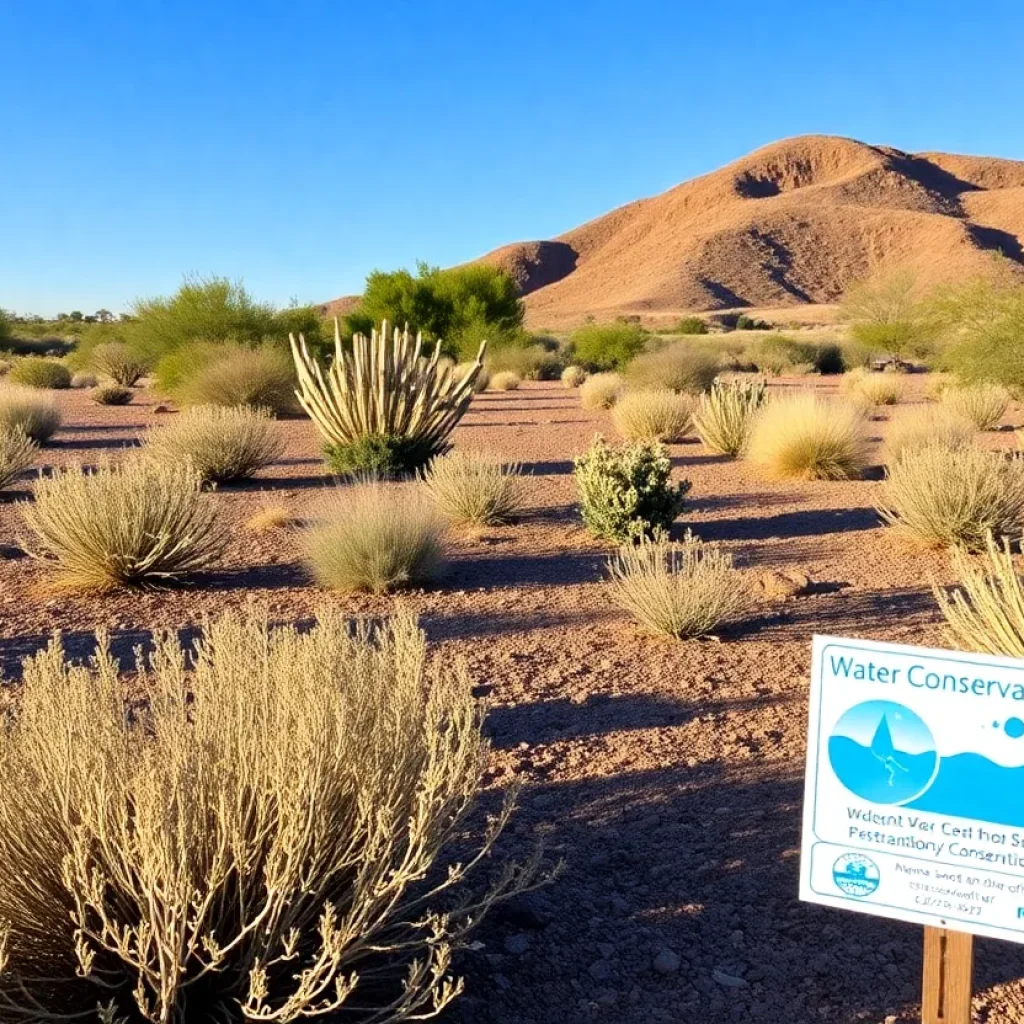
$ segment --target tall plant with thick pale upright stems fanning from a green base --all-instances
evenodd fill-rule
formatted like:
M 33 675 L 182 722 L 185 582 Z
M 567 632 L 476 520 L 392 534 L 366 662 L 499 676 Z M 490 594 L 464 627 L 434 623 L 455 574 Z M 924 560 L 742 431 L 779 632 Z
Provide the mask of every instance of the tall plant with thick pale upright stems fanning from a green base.
M 439 340 L 433 354 L 423 356 L 423 336 L 414 341 L 408 327 L 389 336 L 387 321 L 370 338 L 355 335 L 349 353 L 335 319 L 335 358 L 326 373 L 302 335 L 289 340 L 299 379 L 295 394 L 324 435 L 332 469 L 386 474 L 420 469 L 447 450 L 449 434 L 472 400 L 487 345 L 480 345 L 469 372 L 456 378 L 438 362 Z

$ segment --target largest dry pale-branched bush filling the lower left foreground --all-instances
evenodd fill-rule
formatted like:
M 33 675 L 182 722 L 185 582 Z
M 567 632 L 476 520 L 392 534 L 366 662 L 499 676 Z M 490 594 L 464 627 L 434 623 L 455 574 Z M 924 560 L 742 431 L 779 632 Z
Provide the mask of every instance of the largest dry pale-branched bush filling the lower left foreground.
M 130 714 L 104 633 L 90 665 L 59 638 L 26 660 L 0 723 L 3 1020 L 388 1024 L 458 996 L 453 948 L 537 882 L 536 857 L 476 881 L 512 801 L 469 831 L 471 681 L 409 615 L 318 618 L 228 612 L 189 653 L 158 635 Z

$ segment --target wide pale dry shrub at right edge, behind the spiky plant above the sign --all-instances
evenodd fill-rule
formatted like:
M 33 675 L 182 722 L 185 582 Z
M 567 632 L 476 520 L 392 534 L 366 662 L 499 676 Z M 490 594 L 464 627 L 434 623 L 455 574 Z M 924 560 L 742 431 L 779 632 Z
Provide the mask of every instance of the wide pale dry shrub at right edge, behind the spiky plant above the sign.
M 1020 534 L 1024 464 L 973 445 L 930 444 L 889 466 L 878 507 L 907 540 L 981 550 L 990 532 Z

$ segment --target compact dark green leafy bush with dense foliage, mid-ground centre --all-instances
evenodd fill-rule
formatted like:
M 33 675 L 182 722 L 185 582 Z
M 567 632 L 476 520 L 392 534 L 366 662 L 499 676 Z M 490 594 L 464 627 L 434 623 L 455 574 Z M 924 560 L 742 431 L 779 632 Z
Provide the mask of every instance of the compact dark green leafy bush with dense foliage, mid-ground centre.
M 575 460 L 583 521 L 595 537 L 636 540 L 668 530 L 682 511 L 689 480 L 670 482 L 672 462 L 655 441 L 611 447 L 598 435 Z

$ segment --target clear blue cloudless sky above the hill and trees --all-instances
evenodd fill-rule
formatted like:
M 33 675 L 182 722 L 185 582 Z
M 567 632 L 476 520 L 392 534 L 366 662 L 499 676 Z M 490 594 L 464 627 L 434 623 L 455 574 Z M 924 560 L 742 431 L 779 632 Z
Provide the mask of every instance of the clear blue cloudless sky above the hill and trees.
M 1024 159 L 1020 0 L 0 0 L 0 306 L 286 304 L 807 132 Z

